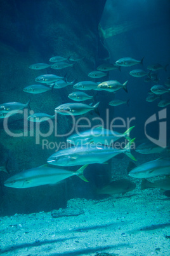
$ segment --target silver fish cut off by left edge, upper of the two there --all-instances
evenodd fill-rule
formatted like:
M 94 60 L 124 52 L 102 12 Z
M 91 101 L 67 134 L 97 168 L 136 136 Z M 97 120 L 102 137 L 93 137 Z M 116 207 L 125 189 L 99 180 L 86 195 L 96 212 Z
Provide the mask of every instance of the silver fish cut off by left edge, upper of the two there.
M 0 105 L 0 113 L 9 113 L 10 111 L 19 111 L 23 110 L 23 108 L 29 108 L 30 100 L 26 103 L 4 103 Z

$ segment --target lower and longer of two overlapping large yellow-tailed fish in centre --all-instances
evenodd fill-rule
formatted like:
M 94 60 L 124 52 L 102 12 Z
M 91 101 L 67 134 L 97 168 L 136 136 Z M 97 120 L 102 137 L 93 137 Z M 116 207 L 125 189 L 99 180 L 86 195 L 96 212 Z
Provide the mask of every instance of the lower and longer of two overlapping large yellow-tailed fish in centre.
M 103 164 L 107 160 L 119 155 L 119 153 L 125 153 L 133 160 L 133 155 L 131 155 L 131 143 L 134 141 L 132 139 L 129 143 L 122 149 L 112 148 L 112 146 L 106 145 L 82 145 L 75 146 L 72 148 L 67 148 L 65 150 L 60 150 L 51 157 L 48 158 L 48 164 L 53 164 L 56 166 L 79 166 L 83 164 Z

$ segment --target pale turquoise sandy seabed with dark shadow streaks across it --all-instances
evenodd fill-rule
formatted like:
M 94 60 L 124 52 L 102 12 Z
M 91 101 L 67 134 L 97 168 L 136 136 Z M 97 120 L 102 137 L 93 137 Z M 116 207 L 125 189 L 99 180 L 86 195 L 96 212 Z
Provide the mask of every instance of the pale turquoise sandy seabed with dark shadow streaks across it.
M 122 161 L 115 161 L 115 168 L 123 169 L 126 161 L 121 167 Z M 170 198 L 157 188 L 141 191 L 140 180 L 130 179 L 137 181 L 136 188 L 124 196 L 70 199 L 65 211 L 81 211 L 78 216 L 53 218 L 51 212 L 40 212 L 0 217 L 0 254 L 170 255 Z

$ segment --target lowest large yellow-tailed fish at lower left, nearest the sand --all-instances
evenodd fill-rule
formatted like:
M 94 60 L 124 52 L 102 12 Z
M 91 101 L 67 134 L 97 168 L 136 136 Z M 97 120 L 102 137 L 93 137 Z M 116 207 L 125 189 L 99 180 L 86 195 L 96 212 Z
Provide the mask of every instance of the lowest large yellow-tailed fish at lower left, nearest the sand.
M 50 167 L 48 164 L 44 164 L 43 166 L 28 169 L 11 176 L 8 178 L 8 180 L 4 181 L 4 186 L 12 188 L 37 187 L 55 184 L 73 175 L 77 175 L 82 180 L 88 181 L 83 175 L 83 171 L 86 167 L 87 165 L 82 166 L 76 172 L 72 172 L 65 169 Z

